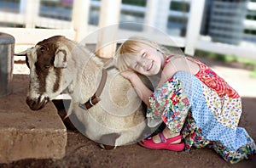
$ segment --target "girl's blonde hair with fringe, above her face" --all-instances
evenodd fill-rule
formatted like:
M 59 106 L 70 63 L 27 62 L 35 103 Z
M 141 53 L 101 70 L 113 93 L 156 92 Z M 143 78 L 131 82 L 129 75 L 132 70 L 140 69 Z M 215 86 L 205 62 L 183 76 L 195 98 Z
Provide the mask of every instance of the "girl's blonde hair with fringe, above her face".
M 120 71 L 130 69 L 128 59 L 136 57 L 140 50 L 145 47 L 160 49 L 161 53 L 165 55 L 165 53 L 162 50 L 163 47 L 159 46 L 158 44 L 154 45 L 154 42 L 142 36 L 131 36 L 128 40 L 126 40 L 119 46 L 117 52 L 115 53 L 113 58 L 115 60 L 115 66 Z

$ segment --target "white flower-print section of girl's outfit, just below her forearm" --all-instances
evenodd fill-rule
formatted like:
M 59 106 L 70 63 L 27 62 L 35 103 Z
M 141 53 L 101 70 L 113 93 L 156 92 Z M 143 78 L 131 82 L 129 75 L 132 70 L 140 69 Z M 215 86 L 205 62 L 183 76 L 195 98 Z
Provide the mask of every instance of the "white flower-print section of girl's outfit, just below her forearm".
M 180 132 L 188 115 L 189 99 L 183 92 L 182 82 L 175 76 L 163 83 L 149 97 L 147 117 L 161 118 L 173 132 Z

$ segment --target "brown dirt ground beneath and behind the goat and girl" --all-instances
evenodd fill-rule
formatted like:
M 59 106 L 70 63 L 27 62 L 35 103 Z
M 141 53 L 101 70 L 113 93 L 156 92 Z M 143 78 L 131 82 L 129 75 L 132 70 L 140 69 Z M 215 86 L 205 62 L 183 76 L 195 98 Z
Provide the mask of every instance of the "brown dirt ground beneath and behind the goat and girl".
M 203 58 L 200 58 L 203 59 Z M 203 59 L 203 62 L 215 67 L 228 67 L 228 70 L 243 70 L 241 64 L 222 64 L 215 60 Z M 225 69 L 219 69 L 225 70 Z M 228 71 L 226 71 L 228 72 Z M 234 73 L 230 71 L 230 73 Z M 234 74 L 234 76 L 239 76 Z M 243 76 L 239 76 L 245 81 Z M 254 80 L 254 84 L 256 84 Z M 252 82 L 252 81 L 249 81 Z M 244 82 L 241 82 L 241 85 Z M 254 85 L 253 84 L 253 85 Z M 256 86 L 256 85 L 254 85 Z M 254 90 L 254 89 L 253 89 Z M 254 97 L 242 96 L 243 114 L 240 126 L 256 140 L 256 94 Z M 58 106 L 60 115 L 63 109 Z M 225 162 L 211 148 L 192 148 L 187 152 L 152 150 L 143 148 L 137 143 L 121 146 L 113 150 L 103 150 L 98 144 L 84 137 L 81 133 L 67 126 L 67 154 L 62 160 L 19 160 L 10 164 L 0 164 L 0 168 L 10 167 L 256 167 L 256 156 L 253 160 L 243 160 L 231 165 Z

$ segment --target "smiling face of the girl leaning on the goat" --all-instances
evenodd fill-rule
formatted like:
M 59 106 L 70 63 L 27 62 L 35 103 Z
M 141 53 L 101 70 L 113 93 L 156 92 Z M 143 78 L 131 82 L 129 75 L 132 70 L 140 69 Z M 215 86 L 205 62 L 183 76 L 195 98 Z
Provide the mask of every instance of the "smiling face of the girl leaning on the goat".
M 148 46 L 140 49 L 138 54 L 128 61 L 132 70 L 144 76 L 154 76 L 162 69 L 164 57 L 156 48 Z

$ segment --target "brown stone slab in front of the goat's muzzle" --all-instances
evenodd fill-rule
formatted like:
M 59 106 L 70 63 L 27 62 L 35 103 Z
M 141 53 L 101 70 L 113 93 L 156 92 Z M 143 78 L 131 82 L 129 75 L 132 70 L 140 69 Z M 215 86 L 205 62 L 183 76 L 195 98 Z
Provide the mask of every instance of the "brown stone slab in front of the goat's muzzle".
M 26 105 L 28 81 L 14 75 L 11 94 L 0 97 L 0 163 L 61 159 L 66 153 L 67 129 L 54 104 L 38 111 Z

